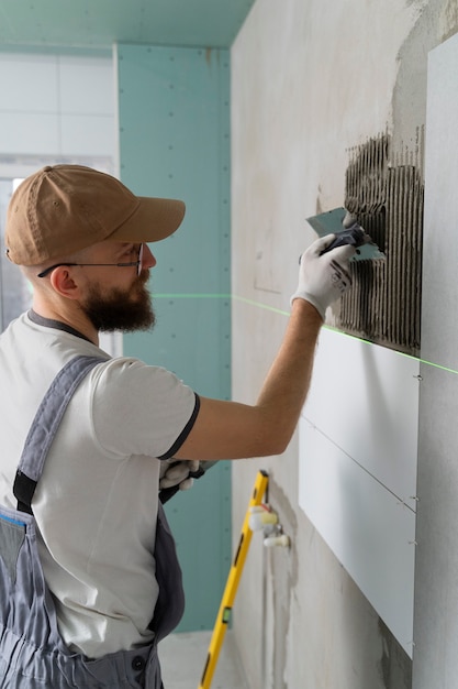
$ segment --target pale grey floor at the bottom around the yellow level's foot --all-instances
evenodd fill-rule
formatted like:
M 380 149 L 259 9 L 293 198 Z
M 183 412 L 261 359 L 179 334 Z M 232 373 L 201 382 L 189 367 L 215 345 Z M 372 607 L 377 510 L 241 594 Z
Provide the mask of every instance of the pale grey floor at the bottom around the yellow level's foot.
M 211 636 L 211 632 L 171 634 L 160 642 L 159 658 L 165 689 L 199 689 Z M 210 687 L 249 689 L 231 630 L 225 634 Z

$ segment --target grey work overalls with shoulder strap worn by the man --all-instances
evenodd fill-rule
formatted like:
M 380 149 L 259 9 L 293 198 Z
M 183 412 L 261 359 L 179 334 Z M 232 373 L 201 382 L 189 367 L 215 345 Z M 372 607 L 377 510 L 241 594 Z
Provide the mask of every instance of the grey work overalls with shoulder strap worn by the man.
M 31 503 L 58 424 L 96 357 L 57 374 L 26 438 L 14 482 L 18 510 L 0 506 L 0 687 L 2 689 L 161 689 L 157 644 L 181 619 L 185 597 L 175 542 L 159 502 L 154 556 L 159 598 L 154 643 L 98 659 L 71 653 L 58 628 L 40 562 Z

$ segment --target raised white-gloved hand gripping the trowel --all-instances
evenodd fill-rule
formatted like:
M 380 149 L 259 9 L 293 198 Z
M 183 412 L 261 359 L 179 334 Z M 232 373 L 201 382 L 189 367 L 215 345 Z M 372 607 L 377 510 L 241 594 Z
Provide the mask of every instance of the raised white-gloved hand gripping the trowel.
M 302 254 L 298 289 L 291 297 L 291 304 L 294 299 L 310 302 L 323 320 L 326 308 L 351 286 L 348 261 L 355 247 L 337 247 L 321 255 L 334 238 L 335 234 L 321 237 Z

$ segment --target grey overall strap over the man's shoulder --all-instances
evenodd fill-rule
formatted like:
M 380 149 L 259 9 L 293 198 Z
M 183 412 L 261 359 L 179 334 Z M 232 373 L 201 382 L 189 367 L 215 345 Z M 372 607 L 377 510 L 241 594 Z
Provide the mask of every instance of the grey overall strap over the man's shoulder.
M 35 414 L 19 462 L 13 493 L 18 510 L 32 514 L 32 497 L 64 412 L 85 375 L 105 357 L 76 357 L 56 375 Z

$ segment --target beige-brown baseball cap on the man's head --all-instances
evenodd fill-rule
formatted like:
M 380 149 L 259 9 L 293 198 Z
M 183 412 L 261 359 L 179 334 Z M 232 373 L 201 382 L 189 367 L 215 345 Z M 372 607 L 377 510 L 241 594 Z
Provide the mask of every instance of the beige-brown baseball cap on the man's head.
M 156 242 L 175 232 L 183 216 L 183 201 L 135 196 L 91 167 L 47 165 L 11 198 L 7 255 L 19 265 L 40 265 L 107 239 Z

